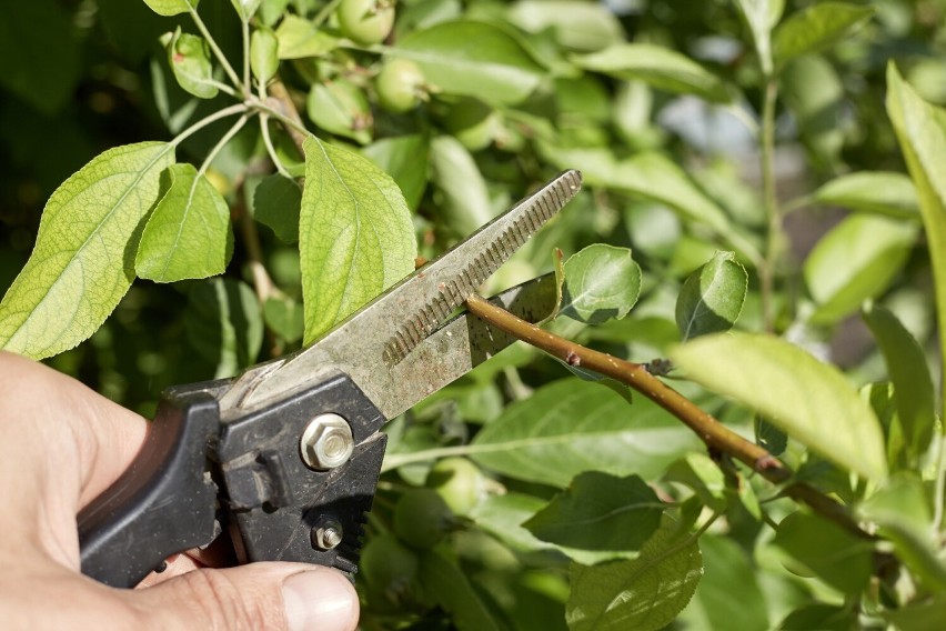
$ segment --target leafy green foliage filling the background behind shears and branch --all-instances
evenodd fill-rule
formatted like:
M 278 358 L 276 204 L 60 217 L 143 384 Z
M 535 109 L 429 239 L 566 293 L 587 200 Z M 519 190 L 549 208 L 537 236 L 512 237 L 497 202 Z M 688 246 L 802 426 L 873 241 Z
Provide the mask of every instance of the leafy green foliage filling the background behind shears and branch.
M 355 149 L 396 182 L 420 254 L 557 170 L 581 169 L 585 192 L 486 293 L 558 260 L 566 300 L 553 330 L 621 358 L 671 357 L 673 377 L 706 389 L 674 387 L 885 540 L 878 549 L 797 510 L 707 457 L 643 397 L 627 408 L 623 388 L 516 348 L 391 425 L 369 549 L 386 547 L 406 570 L 366 569 L 366 628 L 925 629 L 942 619 L 944 119 L 919 101 L 946 103 L 942 0 L 404 0 L 388 49 L 340 44 L 331 17 L 331 37 L 313 36 L 326 4 L 264 1 L 254 27 L 275 33 L 280 79 L 326 153 Z M 199 12 L 239 60 L 234 6 L 203 0 Z M 193 32 L 187 16 L 129 0 L 33 0 L 0 22 L 0 286 L 23 269 L 46 200 L 92 157 L 169 139 L 232 102 L 205 82 L 191 88 L 210 98 L 181 89 L 189 79 L 175 79 L 161 40 L 179 27 Z M 381 106 L 375 78 L 389 58 L 422 69 L 415 109 Z M 228 126 L 183 140 L 178 160 L 201 164 Z M 302 174 L 289 137 L 275 144 Z M 306 161 L 305 174 L 315 168 Z M 233 374 L 314 337 L 303 334 L 302 270 L 334 239 L 300 258 L 300 229 L 321 224 L 300 226 L 289 209 L 321 208 L 319 196 L 272 172 L 259 128 L 239 130 L 208 170 L 234 228 L 225 273 L 137 280 L 88 341 L 47 361 L 150 414 L 167 385 Z M 260 262 L 275 288 L 262 301 Z M 734 324 L 741 332 L 712 335 Z M 419 487 L 442 490 L 453 475 L 439 481 L 444 459 L 472 477 L 457 475 L 469 501 L 411 545 L 404 532 L 419 527 L 399 528 L 410 521 L 399 507 Z M 590 502 L 598 512 L 582 512 Z M 892 561 L 877 553 L 890 549 Z M 615 594 L 647 607 L 608 609 Z

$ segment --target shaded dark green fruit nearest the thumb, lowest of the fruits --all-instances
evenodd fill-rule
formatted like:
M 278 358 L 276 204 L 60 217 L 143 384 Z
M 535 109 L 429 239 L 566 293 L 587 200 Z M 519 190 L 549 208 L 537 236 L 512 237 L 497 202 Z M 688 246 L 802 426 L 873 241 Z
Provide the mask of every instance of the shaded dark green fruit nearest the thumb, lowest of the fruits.
M 410 599 L 417 564 L 417 554 L 390 532 L 370 539 L 361 553 L 361 573 L 371 591 L 395 605 Z

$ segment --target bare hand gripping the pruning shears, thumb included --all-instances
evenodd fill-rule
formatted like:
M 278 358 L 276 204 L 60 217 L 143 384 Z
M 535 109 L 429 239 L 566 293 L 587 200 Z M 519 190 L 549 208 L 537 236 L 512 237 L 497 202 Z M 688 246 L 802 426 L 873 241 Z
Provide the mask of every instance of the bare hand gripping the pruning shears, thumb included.
M 318 629 L 358 624 L 354 588 L 303 563 L 169 564 L 119 590 L 79 572 L 76 514 L 125 469 L 141 417 L 54 370 L 0 352 L 3 629 Z

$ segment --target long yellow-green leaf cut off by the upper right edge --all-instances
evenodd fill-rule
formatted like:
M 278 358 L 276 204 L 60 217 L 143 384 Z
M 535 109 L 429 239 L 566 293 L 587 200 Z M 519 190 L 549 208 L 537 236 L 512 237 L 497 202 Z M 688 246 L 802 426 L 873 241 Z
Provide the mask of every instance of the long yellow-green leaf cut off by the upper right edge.
M 919 197 L 933 263 L 936 313 L 942 328 L 946 322 L 946 174 L 943 173 L 946 110 L 924 102 L 890 63 L 887 67 L 887 113 Z M 946 357 L 946 335 L 939 335 L 939 357 Z M 940 392 L 946 392 L 946 370 Z M 946 411 L 940 415 L 946 418 Z

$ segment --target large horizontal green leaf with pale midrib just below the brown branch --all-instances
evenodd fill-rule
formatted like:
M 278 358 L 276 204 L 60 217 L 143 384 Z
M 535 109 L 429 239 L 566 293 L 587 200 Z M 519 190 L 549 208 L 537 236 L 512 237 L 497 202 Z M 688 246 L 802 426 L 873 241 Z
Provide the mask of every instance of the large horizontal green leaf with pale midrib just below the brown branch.
M 505 475 L 564 488 L 592 470 L 651 480 L 696 444 L 647 399 L 628 407 L 608 388 L 565 379 L 509 405 L 476 434 L 470 453 Z

